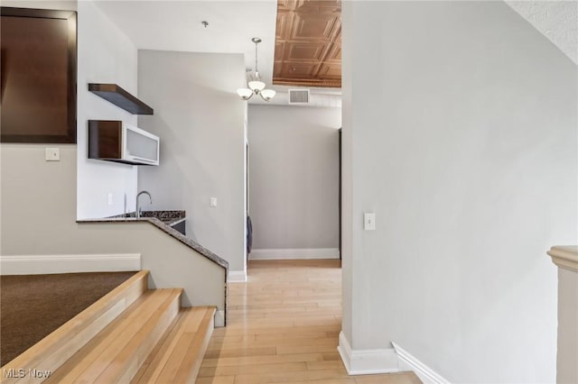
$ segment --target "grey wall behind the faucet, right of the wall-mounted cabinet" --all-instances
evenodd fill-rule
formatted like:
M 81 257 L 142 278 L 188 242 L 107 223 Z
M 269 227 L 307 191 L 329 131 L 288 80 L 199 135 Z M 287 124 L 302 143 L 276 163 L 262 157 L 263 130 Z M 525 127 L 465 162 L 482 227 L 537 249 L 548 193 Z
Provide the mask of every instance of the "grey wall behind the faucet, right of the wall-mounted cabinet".
M 154 107 L 139 124 L 161 138 L 160 166 L 139 169 L 139 189 L 155 210 L 186 210 L 187 236 L 245 273 L 243 55 L 139 50 L 138 62 L 140 96 Z

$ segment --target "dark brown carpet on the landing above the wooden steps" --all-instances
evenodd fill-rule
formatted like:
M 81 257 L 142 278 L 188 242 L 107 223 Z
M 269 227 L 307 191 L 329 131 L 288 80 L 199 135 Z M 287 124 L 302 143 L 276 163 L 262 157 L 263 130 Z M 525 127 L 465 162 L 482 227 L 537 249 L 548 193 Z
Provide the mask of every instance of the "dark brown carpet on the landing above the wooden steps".
M 135 272 L 0 277 L 0 366 L 38 343 Z

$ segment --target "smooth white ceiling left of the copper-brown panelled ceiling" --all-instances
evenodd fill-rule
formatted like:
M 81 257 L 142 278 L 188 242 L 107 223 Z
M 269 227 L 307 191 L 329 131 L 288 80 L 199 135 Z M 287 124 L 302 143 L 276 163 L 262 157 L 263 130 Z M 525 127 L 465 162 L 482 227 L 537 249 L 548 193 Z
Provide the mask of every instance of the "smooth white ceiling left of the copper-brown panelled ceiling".
M 275 51 L 276 0 L 107 1 L 96 5 L 140 50 L 244 53 L 255 67 L 253 37 L 261 77 L 271 84 Z M 202 21 L 209 23 L 205 28 Z

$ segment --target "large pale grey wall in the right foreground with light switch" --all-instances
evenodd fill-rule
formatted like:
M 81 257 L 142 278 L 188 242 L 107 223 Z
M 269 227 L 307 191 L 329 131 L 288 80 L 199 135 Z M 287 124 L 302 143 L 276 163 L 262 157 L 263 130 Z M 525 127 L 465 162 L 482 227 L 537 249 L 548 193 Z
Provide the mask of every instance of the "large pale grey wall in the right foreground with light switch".
M 555 381 L 576 66 L 501 2 L 350 2 L 343 53 L 348 342 L 452 382 Z

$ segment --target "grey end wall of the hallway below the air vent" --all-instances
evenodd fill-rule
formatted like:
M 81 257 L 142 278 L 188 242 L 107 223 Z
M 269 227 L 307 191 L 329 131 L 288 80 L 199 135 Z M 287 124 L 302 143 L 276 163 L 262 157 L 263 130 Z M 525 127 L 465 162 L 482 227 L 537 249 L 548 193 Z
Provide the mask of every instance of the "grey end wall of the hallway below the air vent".
M 253 248 L 339 246 L 341 109 L 249 105 Z

